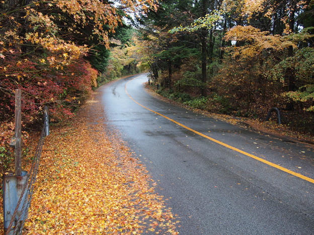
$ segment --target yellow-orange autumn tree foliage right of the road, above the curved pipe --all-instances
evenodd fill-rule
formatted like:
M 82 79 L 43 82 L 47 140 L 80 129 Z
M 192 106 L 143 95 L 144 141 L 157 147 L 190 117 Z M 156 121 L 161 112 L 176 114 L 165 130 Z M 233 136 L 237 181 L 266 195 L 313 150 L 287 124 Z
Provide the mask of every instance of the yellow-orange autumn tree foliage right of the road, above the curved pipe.
M 308 66 L 313 64 L 312 28 L 304 29 L 302 21 L 298 21 L 298 16 L 308 16 L 308 2 L 287 1 L 283 5 L 275 1 L 256 1 L 253 5 L 250 1 L 244 1 L 243 5 L 228 3 L 226 9 L 239 25 L 226 34 L 225 40 L 234 45 L 228 48 L 230 57 L 214 81 L 226 88 L 225 94 L 233 95 L 233 102 L 238 101 L 233 106 L 241 107 L 243 100 L 245 112 L 261 117 L 267 112 L 262 111 L 265 107 L 292 109 L 293 100 L 298 101 L 295 110 L 298 113 L 302 113 L 303 108 L 311 110 L 313 73 Z M 223 80 L 225 86 L 221 84 Z M 310 115 L 302 115 L 308 116 L 307 122 L 312 122 Z

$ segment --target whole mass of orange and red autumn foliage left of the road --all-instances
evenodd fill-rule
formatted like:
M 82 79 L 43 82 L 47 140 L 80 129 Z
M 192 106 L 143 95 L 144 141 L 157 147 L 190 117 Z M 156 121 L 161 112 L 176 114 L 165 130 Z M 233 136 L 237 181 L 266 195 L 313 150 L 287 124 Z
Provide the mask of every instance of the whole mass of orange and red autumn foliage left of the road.
M 99 61 L 91 58 L 97 53 L 107 58 L 110 37 L 122 18 L 153 6 L 151 0 L 2 1 L 1 156 L 12 137 L 15 89 L 22 90 L 24 124 L 39 122 L 44 105 L 50 107 L 51 121 L 69 118 L 96 86 L 99 73 L 87 59 L 96 65 Z

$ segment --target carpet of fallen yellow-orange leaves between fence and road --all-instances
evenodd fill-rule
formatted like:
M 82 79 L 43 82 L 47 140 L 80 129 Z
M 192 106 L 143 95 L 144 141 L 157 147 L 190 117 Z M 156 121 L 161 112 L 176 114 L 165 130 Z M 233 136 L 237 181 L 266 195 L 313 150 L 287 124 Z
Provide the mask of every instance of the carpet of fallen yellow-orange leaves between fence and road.
M 24 234 L 178 234 L 144 166 L 89 103 L 45 140 Z

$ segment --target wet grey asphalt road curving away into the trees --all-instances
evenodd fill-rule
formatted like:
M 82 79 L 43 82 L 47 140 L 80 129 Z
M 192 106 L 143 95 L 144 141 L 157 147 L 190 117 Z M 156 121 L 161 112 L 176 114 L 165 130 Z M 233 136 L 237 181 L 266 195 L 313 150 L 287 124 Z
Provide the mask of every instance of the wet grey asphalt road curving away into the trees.
M 144 90 L 147 80 L 99 92 L 108 124 L 169 198 L 180 234 L 314 234 L 313 146 L 163 102 Z

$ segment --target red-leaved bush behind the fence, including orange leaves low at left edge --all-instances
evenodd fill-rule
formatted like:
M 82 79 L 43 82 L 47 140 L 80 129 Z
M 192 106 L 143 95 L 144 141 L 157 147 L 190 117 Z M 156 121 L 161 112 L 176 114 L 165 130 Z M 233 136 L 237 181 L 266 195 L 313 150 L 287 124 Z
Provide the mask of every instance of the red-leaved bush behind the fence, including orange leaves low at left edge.
M 43 107 L 49 107 L 50 121 L 70 119 L 73 111 L 96 86 L 98 71 L 81 59 L 62 70 L 18 54 L 0 62 L 0 165 L 2 171 L 13 162 L 9 142 L 14 136 L 15 89 L 22 91 L 23 141 L 25 128 L 41 129 Z

